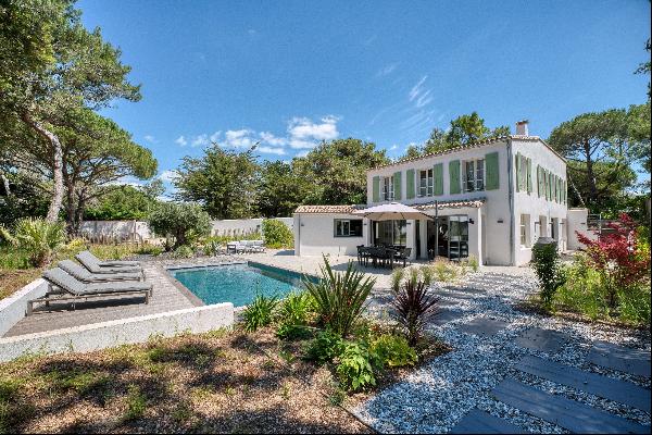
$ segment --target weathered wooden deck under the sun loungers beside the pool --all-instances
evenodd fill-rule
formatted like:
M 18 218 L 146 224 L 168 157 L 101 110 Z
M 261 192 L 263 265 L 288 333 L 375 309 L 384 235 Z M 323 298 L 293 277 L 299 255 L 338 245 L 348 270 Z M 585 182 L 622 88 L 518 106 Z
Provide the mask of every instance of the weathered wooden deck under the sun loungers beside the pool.
M 129 296 L 80 302 L 75 310 L 71 310 L 67 304 L 59 307 L 51 304 L 51 309 L 57 308 L 59 311 L 43 312 L 43 308 L 37 308 L 33 315 L 21 320 L 3 337 L 156 314 L 203 304 L 172 278 L 160 264 L 146 262 L 143 270 L 147 282 L 153 284 L 152 297 L 148 304 L 145 304 L 143 297 Z

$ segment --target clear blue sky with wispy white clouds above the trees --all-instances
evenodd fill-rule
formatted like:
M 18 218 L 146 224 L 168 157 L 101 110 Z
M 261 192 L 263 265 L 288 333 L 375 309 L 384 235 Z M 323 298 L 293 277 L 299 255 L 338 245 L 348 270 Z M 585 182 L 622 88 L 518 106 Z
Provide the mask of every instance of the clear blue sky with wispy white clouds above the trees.
M 472 111 L 548 137 L 588 111 L 645 101 L 650 2 L 82 0 L 142 100 L 104 114 L 160 173 L 211 140 L 289 160 L 356 137 L 400 156 Z

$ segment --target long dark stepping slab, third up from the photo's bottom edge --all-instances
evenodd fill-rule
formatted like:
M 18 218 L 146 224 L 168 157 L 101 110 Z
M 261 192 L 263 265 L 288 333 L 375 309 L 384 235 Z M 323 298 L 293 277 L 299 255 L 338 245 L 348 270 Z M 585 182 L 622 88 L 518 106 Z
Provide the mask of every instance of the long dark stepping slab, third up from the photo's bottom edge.
M 598 373 L 585 372 L 574 366 L 532 356 L 524 357 L 515 366 L 522 372 L 628 405 L 650 413 L 650 390 L 630 382 L 614 380 Z

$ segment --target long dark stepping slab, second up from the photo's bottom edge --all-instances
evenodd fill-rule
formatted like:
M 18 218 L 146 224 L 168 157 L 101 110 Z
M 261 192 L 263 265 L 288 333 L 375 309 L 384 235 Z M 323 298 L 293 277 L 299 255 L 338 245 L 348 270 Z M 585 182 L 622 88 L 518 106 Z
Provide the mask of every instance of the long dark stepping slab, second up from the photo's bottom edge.
M 492 391 L 500 401 L 584 434 L 649 434 L 650 427 L 610 414 L 565 397 L 551 395 L 514 378 L 501 382 Z

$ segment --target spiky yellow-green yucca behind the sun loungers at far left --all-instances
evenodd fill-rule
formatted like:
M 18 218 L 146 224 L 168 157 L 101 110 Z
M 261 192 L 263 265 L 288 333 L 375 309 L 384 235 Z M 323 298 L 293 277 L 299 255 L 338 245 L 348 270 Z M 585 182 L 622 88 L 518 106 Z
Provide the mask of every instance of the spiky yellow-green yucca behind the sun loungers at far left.
M 9 231 L 0 227 L 0 235 L 3 238 L 29 253 L 29 262 L 35 268 L 48 264 L 52 253 L 65 241 L 65 224 L 49 222 L 41 217 L 21 219 L 13 233 L 12 236 Z

